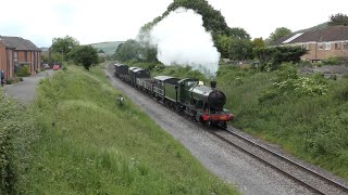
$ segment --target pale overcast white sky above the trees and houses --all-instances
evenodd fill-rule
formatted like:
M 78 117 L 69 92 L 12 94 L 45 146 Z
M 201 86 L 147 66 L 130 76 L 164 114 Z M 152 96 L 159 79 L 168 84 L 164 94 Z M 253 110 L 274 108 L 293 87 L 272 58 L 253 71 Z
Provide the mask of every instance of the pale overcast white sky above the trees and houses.
M 161 15 L 173 0 L 16 0 L 1 2 L 0 35 L 23 37 L 50 47 L 66 35 L 82 44 L 125 41 Z M 244 28 L 252 38 L 268 38 L 277 27 L 293 31 L 348 14 L 347 0 L 208 0 L 229 27 Z M 5 8 L 5 9 L 4 9 Z

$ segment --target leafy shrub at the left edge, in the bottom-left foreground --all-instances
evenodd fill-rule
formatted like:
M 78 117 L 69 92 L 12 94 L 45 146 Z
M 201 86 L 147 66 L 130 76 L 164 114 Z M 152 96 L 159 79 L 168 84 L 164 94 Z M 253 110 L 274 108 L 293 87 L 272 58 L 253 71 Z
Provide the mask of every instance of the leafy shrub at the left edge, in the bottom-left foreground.
M 26 174 L 34 126 L 26 107 L 0 89 L 0 194 L 12 194 Z

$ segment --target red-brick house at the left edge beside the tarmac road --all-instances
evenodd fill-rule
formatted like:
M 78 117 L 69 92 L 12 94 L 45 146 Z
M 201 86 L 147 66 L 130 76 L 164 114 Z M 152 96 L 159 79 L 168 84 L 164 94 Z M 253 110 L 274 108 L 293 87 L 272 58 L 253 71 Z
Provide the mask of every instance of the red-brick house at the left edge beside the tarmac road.
M 32 41 L 21 37 L 0 36 L 0 69 L 5 79 L 13 78 L 16 70 L 28 65 L 32 75 L 40 68 L 41 51 Z

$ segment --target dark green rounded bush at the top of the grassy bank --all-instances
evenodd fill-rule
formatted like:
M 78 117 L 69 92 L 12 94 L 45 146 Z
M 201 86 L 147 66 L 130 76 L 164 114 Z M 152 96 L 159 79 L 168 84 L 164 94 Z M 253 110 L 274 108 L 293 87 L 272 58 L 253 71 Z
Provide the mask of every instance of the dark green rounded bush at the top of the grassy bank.
M 75 47 L 70 55 L 75 64 L 83 65 L 87 70 L 91 65 L 98 64 L 98 52 L 90 44 Z

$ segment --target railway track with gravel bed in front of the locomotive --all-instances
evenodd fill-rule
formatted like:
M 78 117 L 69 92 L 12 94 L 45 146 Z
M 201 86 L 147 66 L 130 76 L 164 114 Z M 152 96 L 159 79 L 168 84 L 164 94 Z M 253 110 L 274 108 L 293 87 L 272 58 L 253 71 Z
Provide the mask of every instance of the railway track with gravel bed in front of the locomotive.
M 236 144 L 241 151 L 247 151 L 252 156 L 260 158 L 264 164 L 273 166 L 285 174 L 289 174 L 289 177 L 298 180 L 300 183 L 303 182 L 303 184 L 312 187 L 319 194 L 347 194 L 347 182 L 327 171 L 313 169 L 314 166 L 310 166 L 287 154 L 281 154 L 277 152 L 278 150 L 269 148 L 265 144 L 258 143 L 252 138 L 246 138 L 233 129 L 229 128 L 228 131 L 221 130 L 211 133 L 216 134 L 227 143 Z

